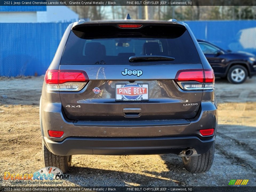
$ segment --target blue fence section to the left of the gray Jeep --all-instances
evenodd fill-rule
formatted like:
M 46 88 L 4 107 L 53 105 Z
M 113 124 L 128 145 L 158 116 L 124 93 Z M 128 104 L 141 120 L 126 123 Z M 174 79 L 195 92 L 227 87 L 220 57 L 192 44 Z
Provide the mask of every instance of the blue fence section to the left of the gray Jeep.
M 42 75 L 69 23 L 0 23 L 0 76 Z

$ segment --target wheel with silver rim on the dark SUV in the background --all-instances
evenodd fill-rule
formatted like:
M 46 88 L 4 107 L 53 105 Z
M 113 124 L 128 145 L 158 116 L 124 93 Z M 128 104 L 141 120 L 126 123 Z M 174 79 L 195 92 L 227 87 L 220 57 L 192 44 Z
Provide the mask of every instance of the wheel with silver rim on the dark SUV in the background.
M 247 69 L 242 65 L 234 65 L 227 72 L 227 80 L 230 83 L 243 83 L 248 77 Z

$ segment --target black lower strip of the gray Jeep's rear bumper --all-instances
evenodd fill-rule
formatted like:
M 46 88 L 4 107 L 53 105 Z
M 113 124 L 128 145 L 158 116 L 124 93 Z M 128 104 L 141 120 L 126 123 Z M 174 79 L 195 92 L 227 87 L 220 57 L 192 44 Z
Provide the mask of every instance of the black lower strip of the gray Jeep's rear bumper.
M 198 154 L 207 153 L 214 137 L 201 140 L 196 136 L 187 137 L 146 137 L 146 138 L 86 138 L 68 137 L 63 141 L 51 141 L 43 137 L 46 147 L 56 155 L 145 155 L 179 154 L 185 148 L 194 148 Z

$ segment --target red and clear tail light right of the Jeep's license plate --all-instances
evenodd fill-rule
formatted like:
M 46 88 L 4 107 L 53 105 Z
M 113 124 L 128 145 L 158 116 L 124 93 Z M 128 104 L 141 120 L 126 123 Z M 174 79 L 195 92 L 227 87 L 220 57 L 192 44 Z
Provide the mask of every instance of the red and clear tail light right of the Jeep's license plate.
M 214 88 L 214 72 L 212 69 L 180 70 L 175 81 L 184 90 L 207 90 Z

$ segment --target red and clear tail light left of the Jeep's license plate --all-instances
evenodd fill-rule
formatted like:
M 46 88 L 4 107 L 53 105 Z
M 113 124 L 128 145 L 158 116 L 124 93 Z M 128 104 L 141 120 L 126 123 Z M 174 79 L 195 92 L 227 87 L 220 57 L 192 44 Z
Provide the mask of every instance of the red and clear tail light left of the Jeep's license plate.
M 45 84 L 47 91 L 80 91 L 89 81 L 84 71 L 47 70 Z

